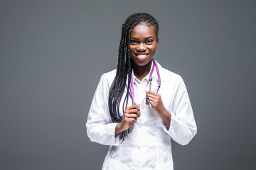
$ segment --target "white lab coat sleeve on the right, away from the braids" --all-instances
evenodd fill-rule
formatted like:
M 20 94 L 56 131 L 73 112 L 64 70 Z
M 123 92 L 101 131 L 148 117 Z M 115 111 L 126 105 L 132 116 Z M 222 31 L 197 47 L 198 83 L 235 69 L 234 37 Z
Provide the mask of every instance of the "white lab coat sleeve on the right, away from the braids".
M 171 113 L 169 130 L 167 130 L 164 122 L 162 122 L 162 124 L 164 131 L 166 131 L 175 142 L 180 145 L 187 145 L 196 135 L 197 127 L 188 92 L 180 76 L 177 80 L 174 93 L 173 103 L 171 108 L 168 109 L 169 113 Z

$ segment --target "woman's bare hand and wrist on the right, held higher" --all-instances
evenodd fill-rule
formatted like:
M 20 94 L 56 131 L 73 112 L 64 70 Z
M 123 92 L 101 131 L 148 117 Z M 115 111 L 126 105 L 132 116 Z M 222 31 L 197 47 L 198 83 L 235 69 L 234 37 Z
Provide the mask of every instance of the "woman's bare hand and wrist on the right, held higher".
M 156 115 L 164 120 L 164 124 L 166 125 L 167 129 L 169 129 L 171 113 L 169 113 L 169 111 L 167 111 L 164 107 L 164 103 L 161 100 L 161 95 L 156 94 L 154 91 L 146 91 L 146 97 L 149 98 L 149 102 L 154 109 Z M 146 100 L 146 105 L 149 105 L 149 102 Z

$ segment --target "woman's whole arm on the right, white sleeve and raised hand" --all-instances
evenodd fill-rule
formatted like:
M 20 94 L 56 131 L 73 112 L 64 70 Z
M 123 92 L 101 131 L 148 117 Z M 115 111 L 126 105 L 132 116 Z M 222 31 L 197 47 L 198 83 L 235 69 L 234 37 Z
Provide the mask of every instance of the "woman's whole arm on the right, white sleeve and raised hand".
M 196 135 L 197 128 L 183 80 L 179 77 L 174 101 L 169 109 L 164 108 L 161 96 L 153 93 L 150 91 L 146 95 L 149 96 L 155 113 L 162 118 L 164 131 L 178 144 L 187 145 Z

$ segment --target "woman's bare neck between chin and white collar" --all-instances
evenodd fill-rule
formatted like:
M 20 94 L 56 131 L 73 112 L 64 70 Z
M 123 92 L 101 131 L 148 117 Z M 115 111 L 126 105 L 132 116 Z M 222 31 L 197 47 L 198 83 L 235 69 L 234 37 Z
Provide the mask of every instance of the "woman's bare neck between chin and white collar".
M 147 74 L 149 74 L 151 64 L 152 61 L 144 66 L 138 66 L 137 64 L 132 63 L 132 69 L 134 70 L 134 75 L 137 77 L 137 79 L 142 80 Z

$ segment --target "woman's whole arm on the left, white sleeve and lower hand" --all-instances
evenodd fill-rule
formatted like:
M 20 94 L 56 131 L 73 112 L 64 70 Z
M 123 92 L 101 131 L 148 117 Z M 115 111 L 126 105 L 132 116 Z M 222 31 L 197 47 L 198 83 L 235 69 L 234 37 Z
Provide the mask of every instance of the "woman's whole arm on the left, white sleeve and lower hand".
M 109 85 L 103 74 L 92 99 L 87 117 L 87 135 L 92 142 L 102 145 L 119 145 L 119 135 L 128 130 L 139 118 L 139 105 L 130 106 L 124 111 L 121 123 L 112 123 L 108 108 Z

